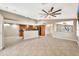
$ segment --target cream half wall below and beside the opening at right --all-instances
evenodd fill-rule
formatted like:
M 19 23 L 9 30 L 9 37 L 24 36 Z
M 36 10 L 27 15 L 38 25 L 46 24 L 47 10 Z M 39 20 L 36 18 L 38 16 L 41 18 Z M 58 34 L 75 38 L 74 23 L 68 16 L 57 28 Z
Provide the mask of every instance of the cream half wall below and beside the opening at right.
M 52 36 L 54 38 L 59 38 L 59 39 L 66 39 L 66 40 L 72 40 L 72 41 L 77 41 L 76 40 L 76 35 L 75 35 L 75 26 L 73 25 L 73 32 L 67 33 L 67 32 L 56 32 L 56 24 L 54 24 L 54 31 L 52 31 Z M 53 29 L 52 29 L 53 30 Z

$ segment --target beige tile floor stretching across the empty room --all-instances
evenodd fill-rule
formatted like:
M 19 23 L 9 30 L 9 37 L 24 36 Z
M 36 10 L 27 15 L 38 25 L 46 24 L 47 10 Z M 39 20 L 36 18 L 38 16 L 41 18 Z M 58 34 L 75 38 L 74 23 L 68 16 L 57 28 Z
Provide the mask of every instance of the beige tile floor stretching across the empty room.
M 79 47 L 75 41 L 56 39 L 48 35 L 36 39 L 5 39 L 1 56 L 78 56 Z

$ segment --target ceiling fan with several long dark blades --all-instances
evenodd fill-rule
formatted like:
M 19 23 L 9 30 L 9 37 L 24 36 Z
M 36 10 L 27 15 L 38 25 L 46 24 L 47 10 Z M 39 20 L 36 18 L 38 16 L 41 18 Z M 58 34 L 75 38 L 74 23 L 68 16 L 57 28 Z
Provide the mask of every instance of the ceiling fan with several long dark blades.
M 59 11 L 61 11 L 62 9 L 58 9 L 56 11 L 53 11 L 53 9 L 54 9 L 54 7 L 51 7 L 51 9 L 49 11 L 42 9 L 42 11 L 44 12 L 44 14 L 42 14 L 42 15 L 45 15 L 46 17 L 48 17 L 48 16 L 56 17 L 56 15 L 61 14 L 61 13 L 59 13 Z

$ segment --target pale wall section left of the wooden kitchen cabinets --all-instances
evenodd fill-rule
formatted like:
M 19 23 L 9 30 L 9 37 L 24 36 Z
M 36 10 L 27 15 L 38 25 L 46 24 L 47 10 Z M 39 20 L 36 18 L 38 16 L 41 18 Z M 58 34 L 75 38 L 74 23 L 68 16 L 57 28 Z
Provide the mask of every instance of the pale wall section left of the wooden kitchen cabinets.
M 16 25 L 10 25 L 10 24 L 4 24 L 4 37 L 19 37 L 19 30 L 18 26 Z

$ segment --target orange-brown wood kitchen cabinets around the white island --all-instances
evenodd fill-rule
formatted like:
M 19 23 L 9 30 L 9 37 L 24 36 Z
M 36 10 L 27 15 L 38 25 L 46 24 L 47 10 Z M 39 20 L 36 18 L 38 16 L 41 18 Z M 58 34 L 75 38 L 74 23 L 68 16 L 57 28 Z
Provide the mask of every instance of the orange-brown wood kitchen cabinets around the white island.
M 45 25 L 39 25 L 39 26 L 34 26 L 34 25 L 19 25 L 19 36 L 24 38 L 24 31 L 33 31 L 33 30 L 38 30 L 39 36 L 45 36 Z

